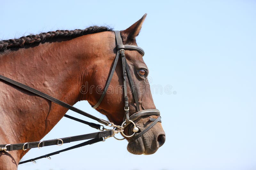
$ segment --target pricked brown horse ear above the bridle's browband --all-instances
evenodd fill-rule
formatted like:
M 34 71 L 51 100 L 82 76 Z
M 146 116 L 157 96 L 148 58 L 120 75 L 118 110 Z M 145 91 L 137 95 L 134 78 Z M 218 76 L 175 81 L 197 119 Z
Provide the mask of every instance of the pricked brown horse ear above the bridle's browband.
M 124 42 L 127 43 L 127 42 L 131 42 L 131 41 L 135 40 L 135 38 L 140 33 L 140 29 L 141 29 L 142 23 L 145 20 L 146 16 L 147 16 L 147 13 L 144 14 L 143 17 L 140 18 L 140 20 L 138 20 L 137 22 L 132 24 L 132 26 L 130 26 L 126 30 L 120 32 L 122 37 L 123 37 L 123 41 Z

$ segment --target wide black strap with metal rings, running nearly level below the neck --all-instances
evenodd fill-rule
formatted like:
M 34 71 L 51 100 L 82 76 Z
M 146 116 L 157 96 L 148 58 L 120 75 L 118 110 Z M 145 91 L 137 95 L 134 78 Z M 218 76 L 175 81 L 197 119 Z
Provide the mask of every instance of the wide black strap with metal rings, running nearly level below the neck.
M 64 143 L 70 143 L 70 142 L 92 139 L 92 138 L 108 137 L 112 135 L 113 135 L 113 130 L 107 130 L 107 131 L 94 132 L 94 133 L 89 133 L 84 135 L 71 136 L 67 138 L 28 142 L 28 143 L 21 143 L 21 144 L 11 144 L 6 146 L 6 148 L 7 148 L 7 151 L 22 150 L 23 146 L 24 146 L 24 149 L 31 149 L 31 148 L 38 147 L 39 143 L 40 143 L 39 147 L 44 147 L 44 146 L 51 146 L 51 145 L 60 145 L 62 143 L 61 140 L 63 141 L 63 144 L 64 144 Z M 0 145 L 0 147 L 5 147 L 5 145 Z

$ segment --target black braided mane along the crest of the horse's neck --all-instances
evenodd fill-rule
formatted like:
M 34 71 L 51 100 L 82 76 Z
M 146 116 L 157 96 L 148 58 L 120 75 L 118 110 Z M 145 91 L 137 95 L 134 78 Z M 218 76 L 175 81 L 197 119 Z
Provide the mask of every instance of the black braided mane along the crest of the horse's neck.
M 36 43 L 44 43 L 49 40 L 54 40 L 57 38 L 75 38 L 82 35 L 94 34 L 97 32 L 105 32 L 112 31 L 111 28 L 104 26 L 91 26 L 84 30 L 76 29 L 76 30 L 57 30 L 50 32 L 43 32 L 36 35 L 28 35 L 26 37 L 20 37 L 19 39 L 8 39 L 0 41 L 0 52 L 4 52 L 7 49 L 11 48 L 20 48 L 25 45 L 32 45 Z

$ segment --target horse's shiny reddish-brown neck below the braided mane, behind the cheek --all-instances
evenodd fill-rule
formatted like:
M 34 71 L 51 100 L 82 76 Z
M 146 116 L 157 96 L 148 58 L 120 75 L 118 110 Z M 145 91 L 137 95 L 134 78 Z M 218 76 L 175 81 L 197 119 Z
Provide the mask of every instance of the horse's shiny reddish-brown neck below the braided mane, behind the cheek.
M 0 56 L 0 69 L 4 70 L 1 74 L 73 105 L 80 99 L 79 89 L 85 76 L 82 74 L 90 68 L 91 54 L 80 50 L 83 46 L 79 38 L 82 39 L 47 42 L 5 53 Z M 3 115 L 7 120 L 12 119 L 12 123 L 2 126 L 0 131 L 0 136 L 7 136 L 8 143 L 40 140 L 67 112 L 19 88 L 5 83 L 0 87 Z

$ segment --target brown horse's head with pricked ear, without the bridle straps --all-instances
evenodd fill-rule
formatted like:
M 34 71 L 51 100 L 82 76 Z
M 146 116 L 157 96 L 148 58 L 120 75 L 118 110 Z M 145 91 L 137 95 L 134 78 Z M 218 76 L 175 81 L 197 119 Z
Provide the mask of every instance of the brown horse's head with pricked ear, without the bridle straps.
M 122 43 L 124 45 L 132 45 L 137 46 L 136 37 L 139 35 L 142 23 L 146 18 L 146 14 L 134 23 L 132 26 L 127 28 L 124 31 L 121 31 Z M 100 96 L 102 96 L 102 89 L 106 86 L 106 82 L 108 81 L 108 77 L 111 74 L 111 68 L 113 68 L 116 53 L 119 53 L 116 48 L 116 38 L 114 32 L 101 32 L 98 35 L 98 42 L 92 43 L 94 48 L 94 52 L 96 53 L 95 61 L 93 63 L 97 63 L 94 67 L 93 77 L 90 78 L 90 85 L 96 87 L 93 94 L 89 97 L 87 96 L 88 102 L 98 110 L 100 113 L 106 115 L 108 119 L 115 124 L 122 124 L 125 121 L 125 102 L 124 102 L 124 73 L 122 67 L 122 60 L 118 60 L 115 72 L 113 74 L 113 78 L 106 95 L 100 101 Z M 107 46 L 102 47 L 102 44 L 107 44 Z M 96 52 L 97 51 L 97 52 Z M 104 59 L 97 60 L 99 56 L 104 56 Z M 130 70 L 130 79 L 133 81 L 133 88 L 136 92 L 137 101 L 135 100 L 133 89 L 131 87 L 130 81 L 128 78 L 126 79 L 127 84 L 127 97 L 129 103 L 129 117 L 135 117 L 133 122 L 136 124 L 136 127 L 141 131 L 146 131 L 144 134 L 140 135 L 140 137 L 133 138 L 133 124 L 130 123 L 124 129 L 124 137 L 129 141 L 127 145 L 127 150 L 133 154 L 153 154 L 157 151 L 157 149 L 162 146 L 165 142 L 165 133 L 161 125 L 161 121 L 156 121 L 155 125 L 151 128 L 150 124 L 152 121 L 155 121 L 158 114 L 158 110 L 156 110 L 151 92 L 150 86 L 147 79 L 148 76 L 148 67 L 143 61 L 143 52 L 140 50 L 125 50 L 125 58 L 126 63 L 128 64 Z M 136 104 L 137 103 L 137 104 Z M 126 103 L 127 104 L 127 103 Z M 127 111 L 127 110 L 126 110 Z M 149 112 L 149 114 L 145 114 L 145 112 Z M 136 115 L 140 114 L 140 117 L 136 118 Z M 125 125 L 125 123 L 124 123 Z M 147 129 L 147 130 L 145 130 Z M 136 136 L 136 135 L 135 135 Z

